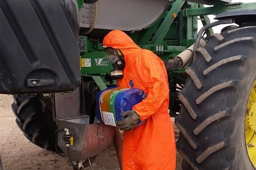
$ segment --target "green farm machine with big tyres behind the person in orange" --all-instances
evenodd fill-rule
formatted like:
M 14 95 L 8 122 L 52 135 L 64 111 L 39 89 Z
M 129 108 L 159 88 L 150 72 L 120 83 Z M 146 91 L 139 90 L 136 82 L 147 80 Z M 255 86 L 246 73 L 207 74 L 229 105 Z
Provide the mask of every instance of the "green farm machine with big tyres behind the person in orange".
M 37 146 L 68 155 L 74 168 L 113 140 L 121 148 L 116 129 L 94 115 L 96 91 L 116 84 L 102 40 L 119 29 L 167 64 L 183 170 L 256 169 L 256 4 L 3 0 L 0 9 L 0 93 L 13 95 L 16 123 Z M 184 66 L 168 69 L 184 51 Z

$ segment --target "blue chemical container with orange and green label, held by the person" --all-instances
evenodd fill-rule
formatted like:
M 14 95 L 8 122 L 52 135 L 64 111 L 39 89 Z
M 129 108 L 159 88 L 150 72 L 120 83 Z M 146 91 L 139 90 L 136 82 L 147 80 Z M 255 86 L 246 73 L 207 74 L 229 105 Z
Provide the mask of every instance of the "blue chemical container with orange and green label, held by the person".
M 145 99 L 146 94 L 136 88 L 124 89 L 110 87 L 96 94 L 96 117 L 104 124 L 116 126 L 116 122 L 124 120 L 121 111 L 132 110 L 132 106 Z M 143 122 L 139 120 L 136 125 Z

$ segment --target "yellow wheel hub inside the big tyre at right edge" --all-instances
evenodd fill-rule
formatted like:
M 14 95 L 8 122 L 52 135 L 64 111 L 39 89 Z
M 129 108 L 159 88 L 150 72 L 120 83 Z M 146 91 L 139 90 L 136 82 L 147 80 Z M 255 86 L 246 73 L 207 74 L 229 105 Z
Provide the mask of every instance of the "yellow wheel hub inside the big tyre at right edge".
M 246 109 L 245 140 L 248 156 L 256 167 L 256 81 L 252 86 Z

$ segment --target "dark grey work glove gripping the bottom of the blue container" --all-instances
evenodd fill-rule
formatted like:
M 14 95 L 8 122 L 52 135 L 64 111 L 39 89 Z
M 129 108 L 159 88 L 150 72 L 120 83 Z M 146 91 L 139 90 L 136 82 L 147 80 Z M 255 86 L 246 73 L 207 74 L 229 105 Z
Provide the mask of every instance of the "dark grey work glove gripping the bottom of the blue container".
M 121 131 L 128 131 L 135 127 L 136 123 L 140 120 L 140 116 L 134 110 L 121 112 L 121 116 L 126 117 L 124 120 L 116 122 L 116 127 Z

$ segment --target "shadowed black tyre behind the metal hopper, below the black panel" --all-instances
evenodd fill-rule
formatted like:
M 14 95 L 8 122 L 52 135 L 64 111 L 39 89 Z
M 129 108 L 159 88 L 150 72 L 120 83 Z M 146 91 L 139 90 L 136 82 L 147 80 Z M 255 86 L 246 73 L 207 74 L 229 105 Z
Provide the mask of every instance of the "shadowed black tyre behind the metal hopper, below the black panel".
M 29 141 L 46 150 L 55 151 L 55 131 L 52 98 L 43 95 L 13 96 L 12 111 L 16 124 Z

